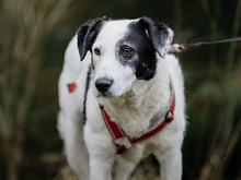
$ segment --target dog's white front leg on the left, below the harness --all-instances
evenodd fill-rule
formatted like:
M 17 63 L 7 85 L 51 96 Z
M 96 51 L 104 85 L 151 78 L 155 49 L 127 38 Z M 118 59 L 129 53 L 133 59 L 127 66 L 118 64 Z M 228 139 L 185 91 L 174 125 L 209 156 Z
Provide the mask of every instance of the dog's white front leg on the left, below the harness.
M 84 131 L 84 140 L 90 155 L 90 179 L 111 180 L 115 146 L 110 132 L 93 131 L 88 124 Z

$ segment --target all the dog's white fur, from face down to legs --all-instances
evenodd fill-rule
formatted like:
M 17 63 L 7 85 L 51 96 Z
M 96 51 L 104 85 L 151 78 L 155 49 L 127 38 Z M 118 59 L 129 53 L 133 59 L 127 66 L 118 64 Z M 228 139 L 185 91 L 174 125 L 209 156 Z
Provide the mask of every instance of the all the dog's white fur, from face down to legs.
M 94 45 L 101 47 L 102 56 L 94 57 L 87 101 L 85 125 L 82 125 L 82 105 L 85 92 L 90 52 L 80 62 L 77 37 L 73 37 L 65 56 L 64 70 L 59 79 L 58 129 L 65 141 L 68 163 L 81 180 L 111 180 L 112 165 L 117 159 L 115 180 L 128 179 L 139 160 L 154 154 L 161 164 L 162 180 L 179 180 L 182 177 L 183 133 L 185 131 L 185 99 L 182 71 L 177 59 L 167 55 L 158 56 L 157 74 L 150 81 L 136 80 L 130 68 L 122 65 L 115 58 L 115 43 L 126 33 L 129 21 L 107 23 L 100 32 Z M 99 97 L 94 81 L 101 76 L 114 79 L 111 92 L 114 97 Z M 161 132 L 150 139 L 133 144 L 123 155 L 115 155 L 115 144 L 110 134 L 99 104 L 105 107 L 113 121 L 118 123 L 130 137 L 140 135 L 148 129 L 150 120 L 167 112 L 170 106 L 172 80 L 176 106 L 175 119 Z M 69 93 L 68 83 L 77 83 L 77 91 Z

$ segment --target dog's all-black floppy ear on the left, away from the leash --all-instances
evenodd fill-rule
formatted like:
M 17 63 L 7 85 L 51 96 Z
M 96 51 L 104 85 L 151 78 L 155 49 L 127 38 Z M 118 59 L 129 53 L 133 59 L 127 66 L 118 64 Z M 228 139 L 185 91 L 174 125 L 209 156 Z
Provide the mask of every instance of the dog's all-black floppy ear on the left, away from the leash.
M 91 50 L 91 47 L 96 39 L 96 36 L 100 33 L 103 23 L 107 20 L 110 19 L 105 16 L 103 16 L 102 19 L 96 19 L 80 26 L 77 31 L 78 49 L 81 61 L 84 59 L 87 52 Z

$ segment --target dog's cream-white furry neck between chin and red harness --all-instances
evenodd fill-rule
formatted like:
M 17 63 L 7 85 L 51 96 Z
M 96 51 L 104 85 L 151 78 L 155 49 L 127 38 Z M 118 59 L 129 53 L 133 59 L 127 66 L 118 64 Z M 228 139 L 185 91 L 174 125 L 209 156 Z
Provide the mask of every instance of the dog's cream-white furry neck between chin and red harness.
M 101 98 L 112 121 L 130 137 L 145 132 L 151 120 L 163 116 L 170 106 L 170 73 L 164 60 L 160 60 L 157 74 L 149 81 L 137 80 L 124 95 Z

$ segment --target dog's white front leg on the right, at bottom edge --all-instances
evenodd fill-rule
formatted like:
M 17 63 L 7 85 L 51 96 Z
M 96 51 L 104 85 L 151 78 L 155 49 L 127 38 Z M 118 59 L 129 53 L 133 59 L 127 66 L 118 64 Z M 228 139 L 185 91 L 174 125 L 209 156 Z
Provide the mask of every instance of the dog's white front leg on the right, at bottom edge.
M 180 149 L 169 149 L 158 158 L 161 165 L 161 180 L 182 179 L 182 153 Z

